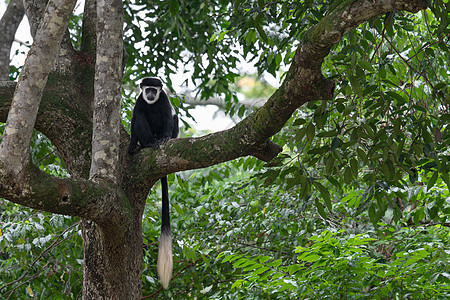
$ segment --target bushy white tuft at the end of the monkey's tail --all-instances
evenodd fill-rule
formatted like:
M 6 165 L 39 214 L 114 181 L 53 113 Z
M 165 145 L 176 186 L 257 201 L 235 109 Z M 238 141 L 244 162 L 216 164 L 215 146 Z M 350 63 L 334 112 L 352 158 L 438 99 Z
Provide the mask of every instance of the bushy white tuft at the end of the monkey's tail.
M 172 237 L 169 232 L 162 232 L 159 237 L 158 263 L 157 271 L 163 288 L 169 287 L 170 278 L 172 278 Z

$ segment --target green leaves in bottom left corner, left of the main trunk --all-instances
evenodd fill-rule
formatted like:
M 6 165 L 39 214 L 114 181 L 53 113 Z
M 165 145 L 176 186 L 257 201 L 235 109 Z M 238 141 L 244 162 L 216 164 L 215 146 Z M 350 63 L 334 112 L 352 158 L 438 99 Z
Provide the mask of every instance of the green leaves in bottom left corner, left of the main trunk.
M 0 201 L 0 295 L 76 299 L 83 250 L 74 218 Z

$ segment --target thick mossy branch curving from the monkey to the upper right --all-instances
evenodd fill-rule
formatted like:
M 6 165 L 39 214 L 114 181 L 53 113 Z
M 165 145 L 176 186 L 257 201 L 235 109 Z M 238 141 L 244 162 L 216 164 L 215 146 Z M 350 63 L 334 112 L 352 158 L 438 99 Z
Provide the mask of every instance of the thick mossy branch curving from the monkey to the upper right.
M 344 2 L 312 27 L 296 50 L 282 86 L 263 107 L 235 127 L 200 138 L 171 140 L 159 151 L 146 150 L 136 159 L 145 162 L 143 174 L 154 164 L 164 176 L 171 172 L 203 168 L 237 157 L 253 155 L 270 160 L 281 147 L 268 139 L 285 125 L 292 113 L 315 100 L 331 100 L 334 82 L 323 77 L 321 67 L 331 47 L 342 36 L 371 18 L 394 10 L 417 12 L 425 0 L 366 0 Z M 202 155 L 199 155 L 201 153 Z

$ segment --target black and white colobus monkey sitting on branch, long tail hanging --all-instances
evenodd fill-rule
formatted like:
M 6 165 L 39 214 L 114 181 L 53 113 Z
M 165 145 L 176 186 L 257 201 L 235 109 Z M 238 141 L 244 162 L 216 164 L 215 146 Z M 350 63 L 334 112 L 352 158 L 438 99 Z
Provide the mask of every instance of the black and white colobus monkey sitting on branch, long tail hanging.
M 157 149 L 160 143 L 178 136 L 178 116 L 162 87 L 159 78 L 146 77 L 141 81 L 141 93 L 131 118 L 131 142 L 128 146 L 130 154 L 136 153 L 140 148 Z M 161 190 L 162 220 L 157 271 L 163 287 L 167 288 L 173 268 L 167 176 L 161 178 Z

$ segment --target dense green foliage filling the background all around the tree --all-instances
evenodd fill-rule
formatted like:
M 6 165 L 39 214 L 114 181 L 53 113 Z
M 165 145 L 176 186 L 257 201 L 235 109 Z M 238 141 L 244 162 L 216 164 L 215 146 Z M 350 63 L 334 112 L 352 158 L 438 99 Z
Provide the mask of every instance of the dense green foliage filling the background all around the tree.
M 243 117 L 242 62 L 261 78 L 282 77 L 307 29 L 338 2 L 126 1 L 124 86 L 149 73 L 171 86 L 185 69 L 198 97 L 219 95 Z M 144 296 L 450 297 L 450 4 L 431 5 L 374 19 L 332 49 L 323 73 L 336 82 L 335 99 L 297 111 L 273 138 L 284 147 L 275 162 L 244 158 L 169 177 L 168 291 L 156 278 L 159 190 L 149 195 Z M 128 118 L 134 92 L 124 91 Z M 172 98 L 180 110 L 182 98 Z M 33 145 L 41 169 L 67 176 L 45 137 Z M 0 213 L 0 294 L 79 298 L 77 220 L 7 201 Z

